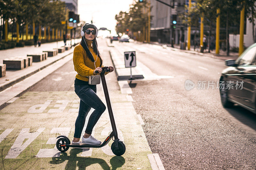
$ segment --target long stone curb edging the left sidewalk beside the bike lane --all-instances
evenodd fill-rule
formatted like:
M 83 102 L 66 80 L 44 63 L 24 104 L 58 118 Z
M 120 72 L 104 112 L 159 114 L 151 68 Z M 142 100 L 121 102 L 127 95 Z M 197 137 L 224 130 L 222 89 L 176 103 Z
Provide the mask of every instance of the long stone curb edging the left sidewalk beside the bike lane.
M 72 53 L 73 53 L 73 51 L 72 51 L 71 53 L 68 53 L 67 55 L 70 55 L 70 54 L 72 54 Z M 4 91 L 4 90 L 7 89 L 8 87 L 11 87 L 12 85 L 15 85 L 16 83 L 18 83 L 18 82 L 24 80 L 25 78 L 28 78 L 29 76 L 35 74 L 36 72 L 38 72 L 38 71 L 40 71 L 40 70 L 43 70 L 45 67 L 48 67 L 49 65 L 52 65 L 53 63 L 59 61 L 60 59 L 66 57 L 67 55 L 64 55 L 64 56 L 62 56 L 61 58 L 59 58 L 59 59 L 53 61 L 52 63 L 49 63 L 49 64 L 47 64 L 47 65 L 44 65 L 44 66 L 40 67 L 39 69 L 37 69 L 37 70 L 35 70 L 35 71 L 33 71 L 33 72 L 30 72 L 30 73 L 28 73 L 28 74 L 26 74 L 26 75 L 24 75 L 24 76 L 22 76 L 22 77 L 20 77 L 20 78 L 17 78 L 17 79 L 15 79 L 15 80 L 13 80 L 13 81 L 11 81 L 11 82 L 5 84 L 5 85 L 2 85 L 2 86 L 0 87 L 0 92 Z

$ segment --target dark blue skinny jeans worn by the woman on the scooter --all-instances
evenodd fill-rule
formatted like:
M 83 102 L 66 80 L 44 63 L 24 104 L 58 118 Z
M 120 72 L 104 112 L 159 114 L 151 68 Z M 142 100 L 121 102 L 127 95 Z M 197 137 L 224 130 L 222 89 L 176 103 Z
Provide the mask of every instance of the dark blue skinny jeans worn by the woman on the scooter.
M 92 129 L 100 119 L 106 106 L 96 94 L 96 85 L 75 85 L 75 92 L 80 98 L 78 116 L 75 123 L 74 137 L 80 138 L 84 128 L 85 118 L 91 108 L 95 109 L 89 117 L 85 133 L 92 134 Z

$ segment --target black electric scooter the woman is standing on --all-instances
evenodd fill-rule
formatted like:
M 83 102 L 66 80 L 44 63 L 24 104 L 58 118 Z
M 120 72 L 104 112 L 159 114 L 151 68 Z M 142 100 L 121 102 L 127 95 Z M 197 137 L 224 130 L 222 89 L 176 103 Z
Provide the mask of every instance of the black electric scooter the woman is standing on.
M 114 142 L 111 145 L 112 152 L 117 156 L 121 156 L 124 154 L 125 145 L 122 141 L 120 141 L 118 139 L 118 136 L 117 136 L 116 123 L 115 123 L 114 115 L 112 112 L 112 107 L 111 107 L 111 103 L 110 103 L 109 95 L 108 95 L 108 87 L 107 87 L 107 83 L 106 83 L 106 79 L 105 79 L 105 75 L 104 75 L 104 73 L 109 72 L 109 71 L 110 71 L 110 69 L 108 67 L 103 67 L 102 71 L 100 73 L 100 78 L 101 78 L 101 82 L 102 82 L 102 86 L 103 86 L 103 90 L 104 90 L 104 94 L 105 94 L 105 98 L 106 98 L 106 102 L 107 102 L 107 106 L 108 106 L 108 114 L 109 114 L 109 118 L 110 118 L 110 122 L 111 122 L 113 131 L 109 134 L 109 136 L 104 140 L 104 142 L 102 144 L 83 144 L 83 143 L 81 143 L 79 145 L 72 145 L 70 143 L 70 140 L 68 139 L 68 137 L 63 136 L 63 135 L 58 136 L 57 139 L 58 138 L 59 139 L 56 142 L 56 146 L 60 152 L 68 151 L 69 147 L 100 148 L 100 147 L 103 147 L 106 144 L 108 144 L 108 142 L 111 139 L 113 139 L 113 137 L 114 137 L 115 138 Z M 96 73 L 99 73 L 99 72 L 96 70 Z

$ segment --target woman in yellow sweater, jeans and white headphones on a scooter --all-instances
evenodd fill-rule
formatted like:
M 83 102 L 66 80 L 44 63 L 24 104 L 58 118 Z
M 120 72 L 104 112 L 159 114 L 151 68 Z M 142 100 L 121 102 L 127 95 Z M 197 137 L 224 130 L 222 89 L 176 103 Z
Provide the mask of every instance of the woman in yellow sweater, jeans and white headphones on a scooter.
M 95 109 L 89 120 L 82 137 L 84 144 L 101 144 L 101 142 L 92 137 L 92 129 L 99 120 L 101 114 L 105 111 L 106 106 L 96 95 L 96 85 L 88 84 L 88 76 L 96 75 L 96 70 L 101 73 L 103 67 L 102 59 L 97 47 L 98 29 L 93 24 L 85 24 L 81 30 L 82 40 L 74 49 L 73 63 L 76 72 L 75 92 L 80 98 L 78 116 L 75 123 L 75 134 L 72 144 L 79 144 L 82 130 L 84 128 L 85 118 L 91 108 Z M 110 72 L 114 70 L 109 67 Z M 83 148 L 80 148 L 83 149 Z

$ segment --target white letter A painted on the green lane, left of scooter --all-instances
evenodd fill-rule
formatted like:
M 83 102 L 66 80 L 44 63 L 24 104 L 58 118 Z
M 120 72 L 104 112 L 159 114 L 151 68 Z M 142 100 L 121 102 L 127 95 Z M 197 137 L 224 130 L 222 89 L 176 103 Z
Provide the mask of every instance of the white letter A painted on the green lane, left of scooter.
M 22 129 L 10 151 L 5 156 L 5 159 L 17 158 L 17 156 L 19 156 L 20 153 L 26 149 L 26 147 L 28 147 L 28 145 L 31 144 L 36 137 L 43 132 L 44 129 L 45 128 L 39 128 L 36 132 L 29 132 L 28 128 Z M 25 139 L 28 140 L 22 144 Z

